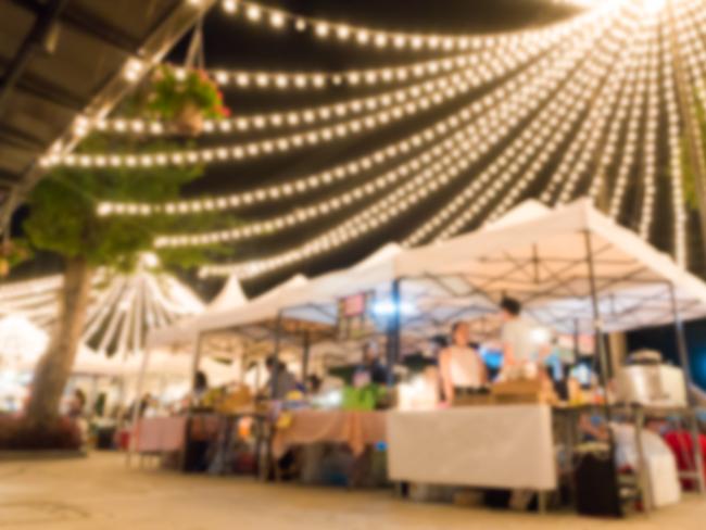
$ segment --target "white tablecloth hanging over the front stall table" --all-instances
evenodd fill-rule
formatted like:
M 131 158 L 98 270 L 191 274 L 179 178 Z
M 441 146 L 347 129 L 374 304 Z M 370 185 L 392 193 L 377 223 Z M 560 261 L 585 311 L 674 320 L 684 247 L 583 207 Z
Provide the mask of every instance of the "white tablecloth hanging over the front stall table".
M 388 469 L 395 481 L 554 490 L 552 411 L 496 405 L 390 412 Z

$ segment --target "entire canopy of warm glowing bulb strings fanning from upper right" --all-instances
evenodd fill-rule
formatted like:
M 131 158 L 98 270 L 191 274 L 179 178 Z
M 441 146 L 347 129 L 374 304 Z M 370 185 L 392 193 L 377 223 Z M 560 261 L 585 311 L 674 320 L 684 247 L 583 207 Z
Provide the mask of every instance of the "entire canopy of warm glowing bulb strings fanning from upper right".
M 572 0 L 557 1 L 572 3 Z M 250 14 L 253 7 L 259 10 L 259 16 Z M 375 153 L 317 174 L 213 199 L 163 205 L 108 203 L 101 206 L 101 213 L 184 215 L 250 207 L 365 176 L 365 180 L 354 188 L 313 201 L 294 212 L 232 230 L 167 236 L 157 241 L 160 245 L 179 247 L 264 237 L 312 223 L 342 207 L 353 210 L 371 199 L 375 201 L 294 249 L 262 260 L 206 267 L 203 270 L 204 274 L 235 272 L 253 277 L 311 258 L 378 229 L 471 172 L 472 180 L 455 193 L 454 200 L 437 215 L 424 222 L 405 243 L 417 244 L 434 234 L 438 239 L 451 237 L 483 217 L 496 218 L 512 207 L 537 184 L 543 169 L 547 168 L 550 159 L 553 164 L 562 153 L 558 167 L 552 173 L 542 193 L 545 202 L 567 202 L 588 187 L 588 193 L 593 198 L 597 198 L 601 191 L 612 193 L 608 195 L 608 210 L 610 215 L 617 217 L 626 202 L 626 193 L 633 193 L 633 187 L 629 186 L 635 181 L 632 177 L 642 177 L 638 188 L 640 191 L 634 193 L 636 200 L 632 203 L 635 204 L 635 217 L 639 217 L 635 227 L 647 238 L 655 214 L 656 147 L 661 135 L 658 125 L 663 123 L 660 113 L 664 106 L 668 124 L 665 139 L 668 140 L 671 172 L 673 252 L 679 263 L 684 264 L 686 217 L 681 182 L 680 132 L 686 124 L 681 123 L 679 115 L 680 104 L 684 106 L 684 102 L 676 97 L 676 73 L 671 62 L 676 55 L 681 58 L 688 79 L 696 88 L 694 93 L 690 93 L 694 101 L 686 102 L 682 109 L 693 118 L 696 100 L 706 101 L 703 85 L 706 10 L 703 7 L 702 0 L 602 2 L 600 8 L 588 10 L 585 15 L 550 28 L 517 35 L 467 37 L 382 31 L 292 15 L 252 2 L 234 2 L 231 11 L 263 27 L 293 25 L 299 30 L 311 31 L 317 38 L 352 46 L 450 54 L 425 63 L 376 71 L 301 74 L 216 71 L 214 76 L 219 84 L 231 83 L 247 89 L 324 89 L 344 84 L 351 87 L 382 87 L 395 83 L 403 86 L 384 93 L 311 109 L 209 123 L 206 132 L 210 134 L 290 127 L 298 129 L 298 132 L 242 146 L 163 153 L 160 160 L 149 159 L 149 165 L 238 161 L 304 149 L 335 141 L 337 135 L 363 134 L 403 116 L 430 110 L 466 93 L 481 74 L 490 79 L 482 83 L 497 86 L 463 111 L 454 112 L 425 129 L 425 132 L 431 131 L 428 135 L 412 135 L 402 142 L 391 143 Z M 227 10 L 225 2 L 224 10 Z M 673 49 L 666 43 L 665 22 L 668 13 L 673 18 L 673 24 L 669 26 L 676 42 Z M 603 33 L 606 28 L 609 29 L 607 35 Z M 577 38 L 579 35 L 581 38 Z M 588 56 L 583 56 L 587 53 Z M 463 59 L 466 64 L 459 63 Z M 541 75 L 535 66 L 543 68 Z M 394 68 L 408 70 L 400 74 L 402 71 Z M 452 90 L 443 90 L 443 96 L 434 97 L 431 93 L 433 90 L 418 94 L 409 91 L 413 87 L 424 90 L 421 87 L 431 86 L 438 91 L 441 80 L 452 81 Z M 664 101 L 660 101 L 660 94 Z M 398 98 L 405 100 L 399 101 Z M 338 114 L 337 105 L 341 105 L 338 106 Z M 350 119 L 352 116 L 355 119 Z M 336 125 L 322 127 L 324 124 Z M 154 126 L 161 127 L 154 134 L 168 134 L 164 125 L 149 122 L 110 121 L 101 126 L 111 131 L 137 134 L 152 134 Z M 85 124 L 77 122 L 75 127 L 80 129 Z M 304 128 L 311 129 L 299 131 Z M 403 143 L 407 140 L 408 143 Z M 643 149 L 644 155 L 640 156 L 641 163 L 638 165 L 640 149 Z M 491 152 L 495 153 L 494 160 L 486 162 Z M 138 155 L 119 157 L 106 153 L 96 159 L 89 155 L 71 156 L 74 156 L 70 159 L 72 163 L 78 166 L 94 163 L 101 167 L 112 164 L 137 167 L 147 164 Z M 53 154 L 45 163 L 56 164 L 65 160 L 60 154 Z M 395 163 L 392 168 L 378 171 L 378 167 L 391 162 Z M 487 167 L 483 168 L 481 164 Z M 640 172 L 635 171 L 638 167 Z M 615 175 L 614 179 L 609 178 L 609 173 Z M 154 314 L 153 318 L 160 317 Z

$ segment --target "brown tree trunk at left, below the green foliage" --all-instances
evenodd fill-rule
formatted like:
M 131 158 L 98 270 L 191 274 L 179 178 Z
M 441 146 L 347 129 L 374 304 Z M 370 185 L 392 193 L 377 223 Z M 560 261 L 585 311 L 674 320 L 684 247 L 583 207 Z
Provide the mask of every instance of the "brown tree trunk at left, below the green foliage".
M 35 369 L 27 407 L 27 419 L 33 425 L 48 425 L 59 415 L 61 398 L 80 344 L 92 275 L 92 267 L 85 260 L 66 261 L 59 318 L 49 348 Z

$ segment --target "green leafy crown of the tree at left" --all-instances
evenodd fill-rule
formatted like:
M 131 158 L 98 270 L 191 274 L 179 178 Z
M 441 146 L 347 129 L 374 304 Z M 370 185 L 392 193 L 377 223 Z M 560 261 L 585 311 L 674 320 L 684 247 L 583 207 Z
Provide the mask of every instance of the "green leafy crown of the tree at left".
M 174 146 L 151 142 L 140 147 L 114 146 L 101 136 L 88 138 L 80 152 L 165 152 Z M 214 229 L 232 225 L 232 219 L 204 214 L 174 216 L 101 217 L 102 201 L 161 202 L 179 198 L 181 187 L 203 173 L 202 167 L 68 168 L 47 175 L 28 199 L 29 216 L 24 231 L 31 245 L 66 258 L 84 258 L 93 266 L 129 272 L 142 252 L 151 251 L 155 236 Z M 160 252 L 164 265 L 193 267 L 218 248 L 175 249 Z

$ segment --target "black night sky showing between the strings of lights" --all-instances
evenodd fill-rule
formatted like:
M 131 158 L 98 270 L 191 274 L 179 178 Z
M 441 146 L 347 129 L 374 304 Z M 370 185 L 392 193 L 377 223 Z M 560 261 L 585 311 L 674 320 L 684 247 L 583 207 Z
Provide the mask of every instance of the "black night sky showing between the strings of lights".
M 546 0 L 356 0 L 339 1 L 289 1 L 263 2 L 287 11 L 330 21 L 367 25 L 383 29 L 407 31 L 439 33 L 489 33 L 513 30 L 545 25 L 572 13 L 571 9 L 550 4 Z M 433 5 L 433 7 L 432 7 Z M 275 31 L 267 27 L 247 24 L 234 20 L 220 9 L 214 9 L 204 21 L 205 65 L 207 68 L 243 68 L 263 71 L 329 71 L 338 72 L 350 68 L 376 67 L 417 62 L 439 56 L 438 54 L 419 55 L 419 53 L 400 53 L 398 51 L 377 51 L 360 49 L 352 46 L 337 45 L 336 40 L 320 41 L 311 34 L 301 34 L 294 29 Z M 174 62 L 181 62 L 188 39 L 172 55 Z M 301 106 L 324 104 L 327 102 L 357 98 L 378 90 L 365 90 L 361 87 L 350 90 L 346 87 L 332 87 L 326 91 L 241 91 L 226 90 L 228 105 L 238 115 L 259 111 L 283 111 Z M 329 146 L 298 151 L 292 155 L 265 157 L 262 162 L 235 165 L 215 165 L 207 175 L 187 190 L 189 194 L 217 194 L 252 189 L 266 184 L 291 180 L 300 175 L 325 169 L 342 161 L 378 149 L 395 141 L 411 131 L 452 114 L 478 96 L 478 91 L 454 100 L 452 103 L 436 108 L 417 117 L 403 119 L 396 125 L 381 128 L 376 134 L 358 136 L 350 141 L 337 141 Z M 250 135 L 237 134 L 235 138 L 252 138 Z M 214 139 L 223 142 L 223 139 Z M 463 180 L 463 179 L 461 179 Z M 365 180 L 356 180 L 362 182 Z M 461 185 L 464 182 L 461 181 Z M 345 185 L 343 185 L 345 186 Z M 350 185 L 349 185 L 350 186 Z M 457 187 L 456 187 L 457 188 Z M 341 186 L 328 187 L 323 193 L 307 195 L 313 201 L 341 190 Z M 423 201 L 419 207 L 412 209 L 406 215 L 388 225 L 384 229 L 370 234 L 361 240 L 330 252 L 311 263 L 280 270 L 277 274 L 259 278 L 245 285 L 250 293 L 261 292 L 285 279 L 303 273 L 308 276 L 345 267 L 375 251 L 390 240 L 406 236 L 419 219 L 430 215 L 438 205 L 445 203 L 455 194 L 452 186 L 445 193 Z M 257 219 L 283 214 L 302 204 L 300 202 L 279 202 L 265 207 L 239 212 L 247 219 Z M 342 210 L 338 215 L 328 216 L 324 222 L 312 222 L 287 230 L 278 237 L 269 237 L 239 243 L 237 257 L 264 256 L 287 249 L 319 232 L 323 228 L 345 218 L 361 205 Z M 201 289 L 213 289 L 214 281 Z

